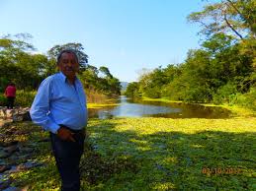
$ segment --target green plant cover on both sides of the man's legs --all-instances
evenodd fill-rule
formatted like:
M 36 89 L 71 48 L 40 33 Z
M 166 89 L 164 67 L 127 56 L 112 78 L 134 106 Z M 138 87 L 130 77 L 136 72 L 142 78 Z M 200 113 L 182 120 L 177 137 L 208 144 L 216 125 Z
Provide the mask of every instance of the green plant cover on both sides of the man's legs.
M 87 130 L 83 190 L 256 189 L 255 117 L 90 120 Z M 46 135 L 36 131 L 25 140 L 35 142 Z M 47 165 L 15 174 L 17 184 L 57 189 L 49 143 L 37 148 L 35 158 Z

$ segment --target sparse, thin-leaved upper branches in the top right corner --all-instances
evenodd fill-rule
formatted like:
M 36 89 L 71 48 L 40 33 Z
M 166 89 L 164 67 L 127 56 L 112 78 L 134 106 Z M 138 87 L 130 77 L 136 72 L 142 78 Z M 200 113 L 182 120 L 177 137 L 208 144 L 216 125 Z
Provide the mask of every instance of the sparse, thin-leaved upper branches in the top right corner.
M 244 39 L 256 35 L 256 3 L 254 0 L 222 0 L 205 6 L 203 11 L 188 16 L 188 21 L 200 23 L 204 34 L 224 32 Z

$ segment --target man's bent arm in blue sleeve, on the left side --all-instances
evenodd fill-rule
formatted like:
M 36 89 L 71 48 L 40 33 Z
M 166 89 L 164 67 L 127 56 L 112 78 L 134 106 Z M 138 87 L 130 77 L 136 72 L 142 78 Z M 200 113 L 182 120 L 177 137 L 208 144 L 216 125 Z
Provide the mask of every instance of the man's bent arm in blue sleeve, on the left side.
M 49 112 L 51 86 L 51 79 L 46 78 L 41 84 L 38 94 L 33 101 L 30 114 L 33 122 L 43 126 L 43 129 L 56 134 L 59 125 L 52 121 L 47 115 Z

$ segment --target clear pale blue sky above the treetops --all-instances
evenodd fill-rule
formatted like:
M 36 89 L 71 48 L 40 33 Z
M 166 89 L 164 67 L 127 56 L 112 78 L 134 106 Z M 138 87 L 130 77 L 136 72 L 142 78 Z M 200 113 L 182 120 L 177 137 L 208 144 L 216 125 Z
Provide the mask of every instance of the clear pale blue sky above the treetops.
M 43 54 L 80 42 L 89 64 L 122 82 L 141 70 L 182 63 L 200 47 L 200 27 L 186 17 L 202 0 L 0 0 L 0 35 L 27 32 Z

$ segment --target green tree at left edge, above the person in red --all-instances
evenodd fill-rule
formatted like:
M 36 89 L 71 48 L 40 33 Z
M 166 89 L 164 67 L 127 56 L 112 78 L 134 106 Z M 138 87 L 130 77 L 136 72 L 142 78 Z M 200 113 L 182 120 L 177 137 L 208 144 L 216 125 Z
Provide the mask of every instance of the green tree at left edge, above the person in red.
M 24 41 L 30 37 L 30 34 L 19 33 L 0 38 L 0 89 L 4 89 L 8 82 L 14 82 L 18 89 L 33 89 L 42 81 L 39 71 L 47 59 L 32 54 L 36 48 Z

